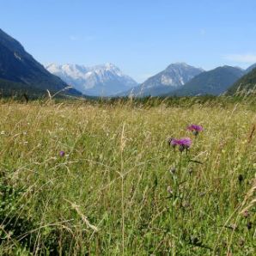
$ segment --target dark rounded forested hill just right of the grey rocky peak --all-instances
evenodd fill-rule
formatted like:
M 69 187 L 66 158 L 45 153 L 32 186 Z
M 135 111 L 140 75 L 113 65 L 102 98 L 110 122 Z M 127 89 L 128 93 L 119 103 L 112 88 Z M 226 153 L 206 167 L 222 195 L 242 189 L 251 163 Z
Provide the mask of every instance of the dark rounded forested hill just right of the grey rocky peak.
M 219 95 L 227 91 L 241 76 L 244 70 L 231 66 L 218 67 L 195 76 L 184 86 L 169 95 L 191 96 L 198 94 Z

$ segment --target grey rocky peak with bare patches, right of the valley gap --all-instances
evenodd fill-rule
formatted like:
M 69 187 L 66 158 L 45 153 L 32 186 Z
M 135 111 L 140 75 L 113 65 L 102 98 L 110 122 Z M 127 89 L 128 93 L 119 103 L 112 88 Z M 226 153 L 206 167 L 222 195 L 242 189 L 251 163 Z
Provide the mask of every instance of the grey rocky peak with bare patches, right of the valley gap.
M 204 70 L 192 67 L 186 63 L 170 64 L 165 70 L 149 77 L 141 85 L 119 95 L 158 96 L 168 94 L 202 72 Z

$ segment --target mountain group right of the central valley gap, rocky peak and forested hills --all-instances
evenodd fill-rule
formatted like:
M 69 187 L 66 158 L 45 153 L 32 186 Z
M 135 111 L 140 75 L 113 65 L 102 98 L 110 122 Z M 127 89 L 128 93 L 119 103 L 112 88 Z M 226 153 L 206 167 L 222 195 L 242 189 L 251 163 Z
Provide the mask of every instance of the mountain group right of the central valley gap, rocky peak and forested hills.
M 229 88 L 235 82 L 240 81 L 241 77 L 249 77 L 254 68 L 256 68 L 256 64 L 248 67 L 247 70 L 224 65 L 214 70 L 204 71 L 184 63 L 170 64 L 166 70 L 149 77 L 141 85 L 118 94 L 118 96 L 219 95 L 228 92 Z M 250 82 L 255 85 L 256 79 L 253 80 L 253 77 Z M 244 80 L 241 81 L 244 82 Z

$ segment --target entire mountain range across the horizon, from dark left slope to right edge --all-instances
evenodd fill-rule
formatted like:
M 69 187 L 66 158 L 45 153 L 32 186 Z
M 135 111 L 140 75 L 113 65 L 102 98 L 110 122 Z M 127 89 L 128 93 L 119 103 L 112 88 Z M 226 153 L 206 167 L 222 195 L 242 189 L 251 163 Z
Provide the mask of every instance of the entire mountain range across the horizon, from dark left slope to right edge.
M 68 85 L 74 88 L 67 88 Z M 138 84 L 114 64 L 86 67 L 78 64 L 49 64 L 44 67 L 21 43 L 0 29 L 0 94 L 17 92 L 82 96 L 170 96 L 234 94 L 256 85 L 256 64 L 242 70 L 222 66 L 205 71 L 186 63 L 170 64 L 165 70 Z

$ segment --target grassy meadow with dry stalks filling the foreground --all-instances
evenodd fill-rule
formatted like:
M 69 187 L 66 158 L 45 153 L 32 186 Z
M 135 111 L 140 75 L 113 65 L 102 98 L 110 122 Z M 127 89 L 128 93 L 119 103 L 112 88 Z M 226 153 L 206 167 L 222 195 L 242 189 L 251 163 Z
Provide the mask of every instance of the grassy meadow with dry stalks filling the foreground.
M 1 255 L 255 255 L 256 104 L 1 101 L 0 115 Z

